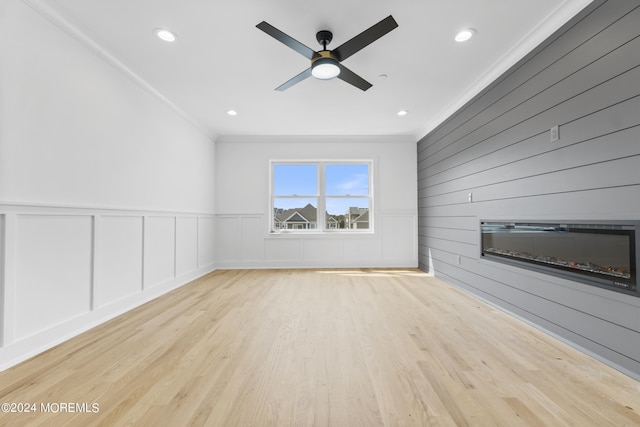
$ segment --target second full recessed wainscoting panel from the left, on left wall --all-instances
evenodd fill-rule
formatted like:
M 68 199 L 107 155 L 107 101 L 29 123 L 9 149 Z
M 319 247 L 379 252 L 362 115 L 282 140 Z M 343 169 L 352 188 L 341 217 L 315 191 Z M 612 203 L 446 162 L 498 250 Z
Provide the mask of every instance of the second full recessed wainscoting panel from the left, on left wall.
M 98 217 L 96 228 L 100 257 L 94 307 L 100 307 L 142 291 L 142 217 Z

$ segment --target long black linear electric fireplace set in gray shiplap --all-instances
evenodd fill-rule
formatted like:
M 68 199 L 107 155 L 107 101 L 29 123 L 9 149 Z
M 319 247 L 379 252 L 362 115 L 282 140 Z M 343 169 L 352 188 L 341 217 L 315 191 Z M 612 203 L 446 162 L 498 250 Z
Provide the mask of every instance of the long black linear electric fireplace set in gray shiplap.
M 640 296 L 639 221 L 480 222 L 482 257 Z

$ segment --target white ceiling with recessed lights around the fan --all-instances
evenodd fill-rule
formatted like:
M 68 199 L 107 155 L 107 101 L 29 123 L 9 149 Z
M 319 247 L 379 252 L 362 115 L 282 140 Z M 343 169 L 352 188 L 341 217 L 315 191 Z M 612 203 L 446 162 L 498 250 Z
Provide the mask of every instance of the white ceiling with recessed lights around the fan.
M 579 12 L 588 0 L 24 0 L 159 95 L 211 137 L 424 136 Z M 255 26 L 320 50 L 393 15 L 399 27 L 347 58 L 363 92 L 309 78 L 309 61 Z M 172 44 L 153 30 L 169 28 Z M 453 37 L 472 27 L 466 43 Z M 380 75 L 386 74 L 387 78 Z M 234 109 L 235 117 L 226 111 Z M 408 110 L 404 117 L 396 115 Z

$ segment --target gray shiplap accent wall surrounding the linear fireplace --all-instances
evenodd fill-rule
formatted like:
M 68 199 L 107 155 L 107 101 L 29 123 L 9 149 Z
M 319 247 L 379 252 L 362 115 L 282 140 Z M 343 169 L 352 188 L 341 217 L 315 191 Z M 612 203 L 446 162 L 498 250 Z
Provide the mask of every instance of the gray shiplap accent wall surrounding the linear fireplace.
M 640 220 L 638 23 L 638 1 L 591 3 L 421 139 L 418 225 L 420 268 L 640 379 L 640 298 L 479 247 L 481 219 Z

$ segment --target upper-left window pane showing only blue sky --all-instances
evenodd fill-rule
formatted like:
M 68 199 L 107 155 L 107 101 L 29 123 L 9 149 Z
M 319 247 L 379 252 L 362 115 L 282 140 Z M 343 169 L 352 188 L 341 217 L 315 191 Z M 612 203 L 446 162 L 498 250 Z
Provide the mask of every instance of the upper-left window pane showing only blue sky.
M 273 165 L 273 194 L 276 196 L 317 195 L 317 166 Z

